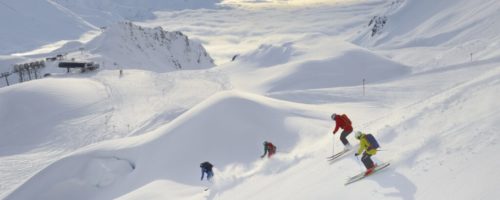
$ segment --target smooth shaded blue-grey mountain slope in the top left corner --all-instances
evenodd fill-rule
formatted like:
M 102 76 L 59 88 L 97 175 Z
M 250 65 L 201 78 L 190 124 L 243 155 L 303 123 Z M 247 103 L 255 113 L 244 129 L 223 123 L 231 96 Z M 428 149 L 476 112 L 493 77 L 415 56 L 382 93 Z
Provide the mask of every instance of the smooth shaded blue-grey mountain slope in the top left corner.
M 66 8 L 47 0 L 2 0 L 0 24 L 1 55 L 77 39 L 83 33 L 97 29 Z

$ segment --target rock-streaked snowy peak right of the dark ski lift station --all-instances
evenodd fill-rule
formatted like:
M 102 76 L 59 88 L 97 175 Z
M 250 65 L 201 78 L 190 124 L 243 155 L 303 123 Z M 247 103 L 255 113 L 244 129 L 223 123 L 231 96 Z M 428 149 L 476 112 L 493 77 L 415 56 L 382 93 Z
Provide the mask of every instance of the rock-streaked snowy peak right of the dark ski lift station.
M 106 28 L 85 49 L 98 56 L 96 60 L 117 63 L 120 68 L 165 72 L 214 66 L 205 48 L 181 32 L 143 28 L 130 22 Z

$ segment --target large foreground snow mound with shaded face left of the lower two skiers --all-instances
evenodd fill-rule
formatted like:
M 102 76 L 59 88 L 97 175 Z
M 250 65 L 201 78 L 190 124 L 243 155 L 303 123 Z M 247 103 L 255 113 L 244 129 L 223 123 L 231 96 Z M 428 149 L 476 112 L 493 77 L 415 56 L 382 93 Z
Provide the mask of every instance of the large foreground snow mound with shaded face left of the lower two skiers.
M 293 150 L 305 136 L 293 121 L 303 116 L 289 103 L 222 92 L 150 133 L 59 160 L 7 198 L 111 199 L 159 179 L 196 186 L 198 165 L 205 160 L 218 170 L 234 170 L 260 160 L 264 140 L 276 141 L 279 150 Z

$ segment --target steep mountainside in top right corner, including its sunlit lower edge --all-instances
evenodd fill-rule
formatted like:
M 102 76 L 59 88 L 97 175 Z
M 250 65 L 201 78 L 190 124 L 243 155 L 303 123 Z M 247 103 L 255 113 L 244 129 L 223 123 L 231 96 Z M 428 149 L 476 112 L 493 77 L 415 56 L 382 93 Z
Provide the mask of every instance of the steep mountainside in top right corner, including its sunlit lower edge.
M 408 65 L 446 66 L 500 55 L 500 5 L 495 0 L 395 0 L 374 16 L 387 19 L 378 33 L 371 36 L 372 24 L 352 40 L 378 49 L 400 49 L 393 58 Z

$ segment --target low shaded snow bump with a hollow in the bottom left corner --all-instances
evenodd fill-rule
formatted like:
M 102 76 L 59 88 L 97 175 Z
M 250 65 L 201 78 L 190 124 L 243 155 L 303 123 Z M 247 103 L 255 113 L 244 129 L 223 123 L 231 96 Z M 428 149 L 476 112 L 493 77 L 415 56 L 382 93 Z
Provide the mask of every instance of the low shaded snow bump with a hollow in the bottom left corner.
M 100 191 L 124 181 L 134 169 L 134 163 L 117 157 L 64 158 L 34 176 L 35 180 L 45 180 L 46 185 L 42 185 L 47 187 L 36 186 L 34 183 L 37 181 L 29 181 L 7 199 L 99 199 Z M 57 175 L 47 176 L 50 174 Z M 29 190 L 39 193 L 37 195 Z

